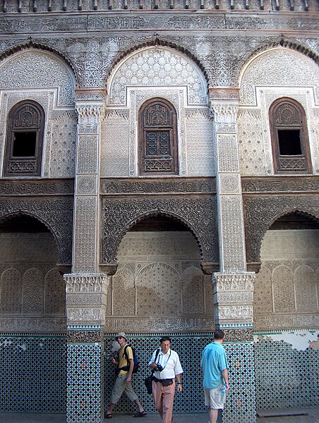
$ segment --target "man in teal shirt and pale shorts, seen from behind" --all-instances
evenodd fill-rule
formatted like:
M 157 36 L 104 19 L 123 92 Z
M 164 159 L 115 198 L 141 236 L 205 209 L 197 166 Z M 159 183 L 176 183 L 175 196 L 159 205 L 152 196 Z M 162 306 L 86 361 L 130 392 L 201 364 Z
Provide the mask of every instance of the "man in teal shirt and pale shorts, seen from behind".
M 203 386 L 209 423 L 217 422 L 218 410 L 224 410 L 226 393 L 229 391 L 228 363 L 223 341 L 224 332 L 217 329 L 214 342 L 206 345 L 200 363 L 204 374 Z

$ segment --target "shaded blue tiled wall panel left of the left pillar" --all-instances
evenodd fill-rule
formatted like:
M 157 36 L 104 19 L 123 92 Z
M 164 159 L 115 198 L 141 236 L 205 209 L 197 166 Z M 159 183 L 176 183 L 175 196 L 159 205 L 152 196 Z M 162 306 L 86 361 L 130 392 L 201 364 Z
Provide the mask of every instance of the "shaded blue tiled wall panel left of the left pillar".
M 0 336 L 0 411 L 65 412 L 66 337 Z

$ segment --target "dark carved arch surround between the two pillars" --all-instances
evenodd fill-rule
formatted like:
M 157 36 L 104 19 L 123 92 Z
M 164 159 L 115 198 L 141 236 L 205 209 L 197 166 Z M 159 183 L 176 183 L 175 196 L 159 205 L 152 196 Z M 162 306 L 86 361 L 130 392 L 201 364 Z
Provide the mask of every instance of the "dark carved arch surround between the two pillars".
M 162 214 L 179 219 L 195 234 L 205 263 L 217 262 L 215 198 L 179 200 L 102 200 L 102 262 L 115 264 L 119 243 L 128 228 L 146 216 Z

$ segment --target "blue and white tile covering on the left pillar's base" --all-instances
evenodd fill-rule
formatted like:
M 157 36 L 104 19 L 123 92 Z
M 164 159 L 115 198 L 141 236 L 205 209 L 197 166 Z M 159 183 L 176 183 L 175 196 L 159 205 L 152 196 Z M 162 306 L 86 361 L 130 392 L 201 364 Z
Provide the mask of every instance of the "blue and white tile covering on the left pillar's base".
M 103 345 L 68 344 L 66 422 L 100 422 L 104 408 L 101 398 Z

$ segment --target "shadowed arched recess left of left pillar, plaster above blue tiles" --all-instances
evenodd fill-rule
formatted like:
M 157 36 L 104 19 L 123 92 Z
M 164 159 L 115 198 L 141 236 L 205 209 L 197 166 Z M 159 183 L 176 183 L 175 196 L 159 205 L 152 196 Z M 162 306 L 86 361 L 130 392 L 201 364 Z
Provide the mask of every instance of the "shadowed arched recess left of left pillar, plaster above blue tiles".
M 66 319 L 58 250 L 32 216 L 0 221 L 1 411 L 64 412 Z

